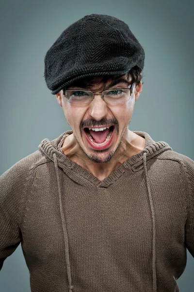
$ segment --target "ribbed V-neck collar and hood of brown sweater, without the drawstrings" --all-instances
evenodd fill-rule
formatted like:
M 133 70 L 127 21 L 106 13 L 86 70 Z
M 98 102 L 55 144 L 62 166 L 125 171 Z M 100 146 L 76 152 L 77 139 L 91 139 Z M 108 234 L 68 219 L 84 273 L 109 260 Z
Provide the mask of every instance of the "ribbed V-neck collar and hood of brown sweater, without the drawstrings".
M 157 154 L 165 151 L 165 150 L 172 150 L 172 148 L 166 142 L 155 142 L 149 134 L 143 131 L 133 131 L 135 134 L 145 138 L 145 146 L 144 149 L 137 152 L 133 156 L 131 156 L 127 161 L 123 164 L 119 165 L 116 169 L 109 174 L 103 181 L 99 181 L 97 177 L 95 177 L 92 173 L 88 170 L 80 166 L 79 164 L 70 160 L 61 150 L 61 147 L 64 143 L 65 138 L 72 134 L 72 131 L 66 131 L 65 133 L 61 134 L 57 139 L 53 141 L 49 141 L 49 139 L 44 139 L 39 149 L 49 157 L 50 160 L 53 161 L 53 154 L 56 154 L 58 165 L 64 169 L 64 171 L 74 172 L 77 175 L 85 178 L 86 180 L 90 181 L 91 183 L 100 186 L 100 187 L 107 187 L 113 182 L 115 182 L 124 172 L 127 170 L 138 171 L 143 167 L 143 154 L 146 152 L 146 160 L 148 161 L 152 157 L 156 156 Z

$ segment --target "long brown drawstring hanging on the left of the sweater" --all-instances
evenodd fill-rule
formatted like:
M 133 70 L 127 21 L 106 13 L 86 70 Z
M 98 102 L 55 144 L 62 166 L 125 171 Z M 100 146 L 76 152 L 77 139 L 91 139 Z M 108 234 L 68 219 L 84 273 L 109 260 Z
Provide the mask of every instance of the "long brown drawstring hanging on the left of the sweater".
M 73 286 L 72 286 L 72 280 L 71 280 L 71 268 L 70 268 L 70 260 L 69 260 L 69 246 L 68 246 L 67 229 L 66 229 L 66 224 L 65 224 L 64 211 L 63 211 L 63 207 L 62 207 L 59 170 L 58 170 L 58 164 L 57 164 L 57 157 L 56 157 L 55 153 L 53 154 L 53 160 L 54 160 L 54 166 L 55 166 L 55 173 L 56 173 L 56 177 L 57 177 L 57 188 L 58 188 L 58 194 L 59 194 L 60 214 L 61 214 L 61 221 L 62 221 L 63 232 L 64 232 L 64 240 L 65 240 L 65 258 L 66 258 L 66 267 L 67 267 L 67 277 L 68 277 L 68 283 L 69 283 L 68 288 L 69 288 L 69 292 L 73 292 Z

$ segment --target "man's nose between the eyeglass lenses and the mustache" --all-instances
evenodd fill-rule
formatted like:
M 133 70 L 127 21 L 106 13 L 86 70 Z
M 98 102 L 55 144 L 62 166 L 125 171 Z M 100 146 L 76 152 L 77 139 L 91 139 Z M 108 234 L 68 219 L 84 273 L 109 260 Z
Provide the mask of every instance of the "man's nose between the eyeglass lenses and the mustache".
M 108 107 L 106 102 L 101 98 L 100 93 L 95 94 L 94 99 L 89 105 L 88 112 L 89 115 L 97 121 L 106 117 L 108 113 Z

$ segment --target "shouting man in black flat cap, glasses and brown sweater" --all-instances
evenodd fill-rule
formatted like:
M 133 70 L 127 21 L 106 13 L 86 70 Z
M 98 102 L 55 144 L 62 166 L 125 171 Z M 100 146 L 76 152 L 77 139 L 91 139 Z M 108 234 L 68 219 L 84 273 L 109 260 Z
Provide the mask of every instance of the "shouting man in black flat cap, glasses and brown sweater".
M 72 131 L 0 178 L 0 264 L 21 242 L 32 292 L 178 292 L 194 256 L 194 161 L 128 124 L 144 50 L 89 15 L 45 57 Z

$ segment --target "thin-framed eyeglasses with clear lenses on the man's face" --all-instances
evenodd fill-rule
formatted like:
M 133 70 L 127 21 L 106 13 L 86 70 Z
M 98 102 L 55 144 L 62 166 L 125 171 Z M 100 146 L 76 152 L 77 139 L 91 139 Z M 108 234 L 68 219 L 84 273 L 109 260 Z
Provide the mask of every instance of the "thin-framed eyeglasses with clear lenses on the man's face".
M 73 104 L 90 104 L 95 98 L 95 94 L 100 94 L 101 98 L 107 104 L 121 104 L 129 100 L 134 85 L 135 83 L 131 84 L 128 88 L 116 88 L 102 92 L 93 92 L 89 90 L 65 90 L 64 95 L 66 101 Z

